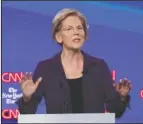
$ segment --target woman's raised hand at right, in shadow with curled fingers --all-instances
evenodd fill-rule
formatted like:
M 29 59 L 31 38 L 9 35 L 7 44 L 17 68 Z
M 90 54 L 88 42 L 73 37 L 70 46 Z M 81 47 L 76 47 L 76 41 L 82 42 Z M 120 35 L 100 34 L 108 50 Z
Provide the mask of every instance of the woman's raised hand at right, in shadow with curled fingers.
M 131 81 L 129 81 L 127 78 L 120 79 L 119 83 L 114 83 L 113 86 L 121 96 L 127 96 L 132 88 Z

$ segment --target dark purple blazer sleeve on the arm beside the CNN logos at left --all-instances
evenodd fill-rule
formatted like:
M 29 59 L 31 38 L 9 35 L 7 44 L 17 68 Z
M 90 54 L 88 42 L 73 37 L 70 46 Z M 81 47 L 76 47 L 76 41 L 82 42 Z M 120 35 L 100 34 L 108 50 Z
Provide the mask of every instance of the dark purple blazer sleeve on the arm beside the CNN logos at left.
M 34 71 L 33 74 L 33 82 L 41 77 L 41 64 L 39 63 Z M 20 114 L 34 114 L 36 113 L 38 104 L 40 103 L 43 96 L 43 90 L 42 90 L 42 82 L 40 82 L 39 86 L 37 87 L 36 91 L 32 95 L 30 101 L 28 103 L 25 103 L 23 100 L 23 97 L 20 98 L 18 101 L 16 101 L 16 104 L 18 105 L 18 110 Z

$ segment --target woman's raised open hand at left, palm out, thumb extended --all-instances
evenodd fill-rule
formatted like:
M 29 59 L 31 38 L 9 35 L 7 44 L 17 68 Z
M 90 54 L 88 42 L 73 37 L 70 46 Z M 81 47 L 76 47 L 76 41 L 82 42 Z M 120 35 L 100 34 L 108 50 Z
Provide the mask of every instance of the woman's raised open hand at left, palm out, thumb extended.
M 23 93 L 24 102 L 28 102 L 32 94 L 36 91 L 38 85 L 42 81 L 42 77 L 38 78 L 34 83 L 32 80 L 32 73 L 26 73 L 21 79 L 21 90 Z

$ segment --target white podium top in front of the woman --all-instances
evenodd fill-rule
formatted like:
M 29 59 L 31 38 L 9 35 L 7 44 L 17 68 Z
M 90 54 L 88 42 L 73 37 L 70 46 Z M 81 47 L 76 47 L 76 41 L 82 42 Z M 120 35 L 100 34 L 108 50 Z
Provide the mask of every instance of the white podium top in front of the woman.
M 115 123 L 115 114 L 19 114 L 18 123 Z

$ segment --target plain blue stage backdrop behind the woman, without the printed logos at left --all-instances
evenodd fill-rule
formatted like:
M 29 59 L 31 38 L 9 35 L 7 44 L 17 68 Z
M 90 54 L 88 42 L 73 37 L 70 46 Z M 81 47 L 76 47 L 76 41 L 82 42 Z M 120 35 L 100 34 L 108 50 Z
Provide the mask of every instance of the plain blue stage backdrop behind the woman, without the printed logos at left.
M 117 122 L 143 122 L 143 2 L 2 2 L 2 72 L 31 72 L 60 50 L 52 40 L 52 19 L 63 8 L 81 11 L 89 24 L 85 52 L 104 58 L 118 81 L 132 81 L 131 109 Z M 19 89 L 19 84 L 2 84 Z M 13 109 L 16 105 L 5 104 Z M 42 101 L 37 113 L 45 113 Z

